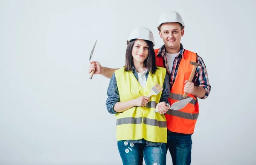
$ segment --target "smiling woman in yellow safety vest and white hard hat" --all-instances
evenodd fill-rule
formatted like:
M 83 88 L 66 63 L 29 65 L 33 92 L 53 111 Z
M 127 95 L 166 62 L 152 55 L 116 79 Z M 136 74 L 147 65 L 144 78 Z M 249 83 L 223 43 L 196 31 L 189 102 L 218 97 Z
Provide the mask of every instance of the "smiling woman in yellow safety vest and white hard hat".
M 112 75 L 106 101 L 109 113 L 116 114 L 118 150 L 123 165 L 142 165 L 143 156 L 146 165 L 166 165 L 166 69 L 155 65 L 154 37 L 148 28 L 135 28 L 127 44 L 125 66 Z M 147 97 L 156 83 L 163 91 Z

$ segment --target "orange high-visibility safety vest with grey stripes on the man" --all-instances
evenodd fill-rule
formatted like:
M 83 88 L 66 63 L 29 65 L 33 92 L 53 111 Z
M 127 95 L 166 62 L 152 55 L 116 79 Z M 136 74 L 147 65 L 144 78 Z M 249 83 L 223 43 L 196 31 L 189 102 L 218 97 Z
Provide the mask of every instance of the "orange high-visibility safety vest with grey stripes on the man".
M 159 49 L 155 49 L 156 55 L 156 65 L 164 67 L 163 57 L 157 56 Z M 193 65 L 190 64 L 191 61 L 196 62 L 197 54 L 191 51 L 185 50 L 183 57 L 180 61 L 179 68 L 177 71 L 177 76 L 175 82 L 171 87 L 171 92 L 169 95 L 169 102 L 172 105 L 174 102 L 183 100 L 184 94 L 184 81 L 189 80 L 190 74 L 193 69 Z M 182 133 L 182 134 L 193 134 L 195 129 L 195 123 L 199 115 L 199 106 L 197 97 L 192 94 L 188 94 L 187 97 L 192 97 L 193 100 L 189 102 L 184 108 L 175 111 L 169 109 L 166 112 L 167 129 L 172 132 Z

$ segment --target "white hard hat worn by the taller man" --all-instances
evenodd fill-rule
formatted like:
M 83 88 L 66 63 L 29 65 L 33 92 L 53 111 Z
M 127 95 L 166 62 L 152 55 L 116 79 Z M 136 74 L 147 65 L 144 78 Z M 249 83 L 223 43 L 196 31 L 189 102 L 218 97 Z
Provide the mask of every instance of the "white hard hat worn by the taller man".
M 182 26 L 185 26 L 183 23 L 182 17 L 180 14 L 176 11 L 167 11 L 164 12 L 158 21 L 157 28 L 162 24 L 162 23 L 180 23 Z

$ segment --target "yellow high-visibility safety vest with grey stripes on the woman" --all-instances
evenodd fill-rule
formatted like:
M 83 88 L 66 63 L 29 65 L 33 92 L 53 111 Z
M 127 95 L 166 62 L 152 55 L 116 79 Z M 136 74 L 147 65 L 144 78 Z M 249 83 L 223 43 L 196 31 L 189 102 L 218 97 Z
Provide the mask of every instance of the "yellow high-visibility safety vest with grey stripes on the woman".
M 163 86 L 166 68 L 157 67 L 154 75 L 148 74 L 145 89 L 137 81 L 132 72 L 120 68 L 115 71 L 120 102 L 148 96 L 156 83 Z M 117 140 L 145 139 L 150 142 L 167 142 L 167 123 L 163 114 L 155 113 L 162 92 L 150 97 L 145 107 L 132 107 L 116 114 Z

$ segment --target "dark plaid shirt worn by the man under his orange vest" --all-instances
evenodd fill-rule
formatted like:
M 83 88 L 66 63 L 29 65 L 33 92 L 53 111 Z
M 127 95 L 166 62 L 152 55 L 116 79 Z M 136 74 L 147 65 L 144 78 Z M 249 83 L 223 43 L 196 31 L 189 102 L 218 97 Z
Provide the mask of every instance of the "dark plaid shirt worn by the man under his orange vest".
M 167 57 L 165 54 L 165 45 L 163 45 L 158 53 L 157 56 L 162 56 L 163 60 L 165 61 L 165 68 L 169 74 L 169 82 L 170 82 L 170 86 L 172 87 L 172 85 L 175 82 L 176 76 L 177 76 L 177 72 L 178 72 L 178 67 L 180 64 L 180 61 L 183 57 L 183 53 L 184 53 L 185 49 L 183 48 L 183 45 L 180 43 L 180 54 L 178 54 L 174 61 L 173 61 L 173 66 L 172 66 L 172 70 L 170 70 L 169 65 L 168 65 L 168 61 L 167 61 Z M 195 76 L 192 80 L 192 82 L 195 84 L 195 86 L 201 86 L 204 88 L 205 95 L 203 97 L 201 97 L 200 99 L 205 99 L 209 96 L 210 91 L 211 91 L 211 85 L 209 84 L 209 80 L 208 80 L 208 74 L 207 74 L 207 70 L 206 70 L 206 66 L 204 64 L 203 59 L 198 56 L 197 54 L 197 63 L 200 63 L 202 65 L 202 67 L 197 67 L 196 71 L 195 71 Z

